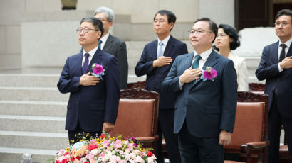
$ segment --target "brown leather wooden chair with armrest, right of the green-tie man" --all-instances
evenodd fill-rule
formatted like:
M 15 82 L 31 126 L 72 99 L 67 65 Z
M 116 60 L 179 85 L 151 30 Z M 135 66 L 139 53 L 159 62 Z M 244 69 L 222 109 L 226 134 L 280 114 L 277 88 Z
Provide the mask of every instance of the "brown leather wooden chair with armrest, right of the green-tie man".
M 269 145 L 268 95 L 239 91 L 236 109 L 234 133 L 224 152 L 244 155 L 248 163 L 253 162 L 252 157 L 266 163 Z

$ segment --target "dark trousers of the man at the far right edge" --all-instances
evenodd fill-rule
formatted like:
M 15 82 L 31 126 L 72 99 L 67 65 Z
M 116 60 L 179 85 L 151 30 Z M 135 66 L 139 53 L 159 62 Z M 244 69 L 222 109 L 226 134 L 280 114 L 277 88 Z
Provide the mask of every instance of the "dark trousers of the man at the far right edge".
M 270 111 L 268 112 L 268 163 L 279 162 L 279 144 L 281 125 L 284 127 L 290 158 L 292 158 L 292 118 L 283 118 L 278 111 L 276 96 L 273 97 Z M 292 106 L 291 106 L 292 108 Z

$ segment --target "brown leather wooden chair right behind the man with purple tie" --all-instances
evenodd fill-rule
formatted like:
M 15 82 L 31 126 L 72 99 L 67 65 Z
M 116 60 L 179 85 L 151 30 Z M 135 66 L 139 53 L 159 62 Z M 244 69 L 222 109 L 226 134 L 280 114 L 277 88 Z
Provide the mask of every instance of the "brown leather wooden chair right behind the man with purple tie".
M 135 137 L 142 147 L 153 148 L 158 139 L 159 94 L 145 89 L 120 90 L 120 103 L 115 129 L 110 135 Z

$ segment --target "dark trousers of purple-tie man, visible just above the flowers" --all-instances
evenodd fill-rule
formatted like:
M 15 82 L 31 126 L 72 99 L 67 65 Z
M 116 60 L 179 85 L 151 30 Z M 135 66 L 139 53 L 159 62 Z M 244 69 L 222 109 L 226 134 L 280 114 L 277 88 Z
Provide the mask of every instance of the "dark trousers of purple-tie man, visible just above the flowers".
M 90 140 L 90 137 L 99 137 L 100 134 L 101 132 L 88 132 L 88 131 L 82 130 L 78 122 L 75 130 L 68 130 L 69 143 L 70 145 L 73 145 L 75 142 L 79 142 L 80 139 L 83 139 L 82 137 L 78 135 L 81 135 L 85 137 L 87 140 Z

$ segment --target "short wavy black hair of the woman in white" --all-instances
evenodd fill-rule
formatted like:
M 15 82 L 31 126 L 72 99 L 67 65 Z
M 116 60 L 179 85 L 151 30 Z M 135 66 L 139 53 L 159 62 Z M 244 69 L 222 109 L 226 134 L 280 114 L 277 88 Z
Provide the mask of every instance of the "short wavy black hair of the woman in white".
M 229 26 L 228 24 L 219 24 L 219 28 L 224 30 L 226 35 L 229 35 L 229 38 L 232 38 L 233 41 L 229 44 L 230 50 L 236 50 L 237 47 L 240 46 L 240 35 L 237 33 L 236 29 Z M 216 50 L 219 50 L 217 47 L 214 46 Z

